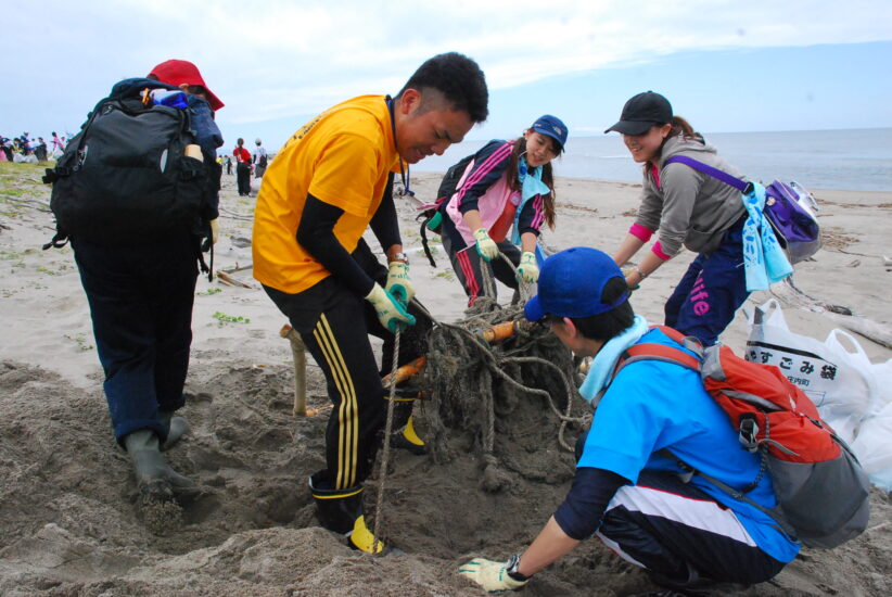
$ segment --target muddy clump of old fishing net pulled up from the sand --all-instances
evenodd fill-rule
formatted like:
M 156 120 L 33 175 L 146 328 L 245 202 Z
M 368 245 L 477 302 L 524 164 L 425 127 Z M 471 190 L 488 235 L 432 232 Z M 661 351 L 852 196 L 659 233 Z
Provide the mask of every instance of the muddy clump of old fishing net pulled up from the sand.
M 500 306 L 488 283 L 463 319 L 436 321 L 428 335 L 426 365 L 412 383 L 424 396 L 429 452 L 441 463 L 477 457 L 489 492 L 510 486 L 507 471 L 559 482 L 591 419 L 576 391 L 578 363 L 546 326 L 524 318 L 532 289 L 521 284 L 521 300 Z M 507 338 L 487 342 L 493 330 Z

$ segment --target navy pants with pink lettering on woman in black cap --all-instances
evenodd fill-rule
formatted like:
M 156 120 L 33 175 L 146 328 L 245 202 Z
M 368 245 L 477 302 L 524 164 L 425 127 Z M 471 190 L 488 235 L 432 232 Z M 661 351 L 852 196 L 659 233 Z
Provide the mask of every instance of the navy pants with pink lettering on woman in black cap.
M 743 269 L 743 219 L 729 228 L 715 253 L 691 262 L 664 308 L 665 325 L 715 344 L 750 293 Z

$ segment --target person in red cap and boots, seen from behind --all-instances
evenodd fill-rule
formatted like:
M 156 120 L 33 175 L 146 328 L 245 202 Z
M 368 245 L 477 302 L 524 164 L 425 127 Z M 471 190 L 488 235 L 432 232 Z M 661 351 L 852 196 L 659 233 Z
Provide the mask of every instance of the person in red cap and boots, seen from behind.
M 142 78 L 112 88 L 113 99 L 139 99 L 144 89 L 181 89 L 203 162 L 212 166 L 202 198 L 202 229 L 216 241 L 222 137 L 214 111 L 224 106 L 184 60 L 168 60 Z M 200 223 L 196 223 L 196 227 Z M 130 455 L 141 498 L 165 503 L 197 493 L 162 454 L 187 432 L 175 412 L 186 404 L 183 385 L 192 343 L 192 305 L 201 259 L 199 230 L 176 228 L 153 242 L 106 246 L 72 237 L 75 262 L 90 304 L 103 389 L 118 444 Z

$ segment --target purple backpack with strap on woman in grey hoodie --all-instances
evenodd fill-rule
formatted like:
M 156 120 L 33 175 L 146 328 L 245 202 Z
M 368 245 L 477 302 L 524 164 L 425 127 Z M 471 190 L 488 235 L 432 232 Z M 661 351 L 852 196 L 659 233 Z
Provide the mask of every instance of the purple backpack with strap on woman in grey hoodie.
M 676 162 L 734 187 L 741 193 L 752 191 L 751 182 L 686 155 L 673 155 L 664 165 Z M 820 249 L 820 228 L 814 215 L 817 209 L 817 202 L 812 193 L 797 182 L 775 180 L 765 187 L 764 213 L 792 264 L 807 259 Z

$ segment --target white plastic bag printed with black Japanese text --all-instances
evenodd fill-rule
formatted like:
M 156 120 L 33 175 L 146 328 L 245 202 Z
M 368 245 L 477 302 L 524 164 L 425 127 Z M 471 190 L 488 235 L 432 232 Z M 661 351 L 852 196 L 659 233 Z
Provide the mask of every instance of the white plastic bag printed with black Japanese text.
M 851 444 L 862 419 L 882 406 L 874 365 L 858 341 L 840 329 L 824 342 L 791 332 L 774 298 L 756 307 L 751 323 L 747 359 L 779 367 Z

